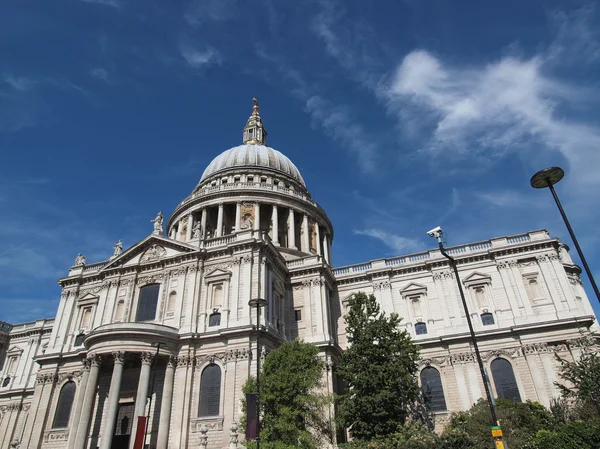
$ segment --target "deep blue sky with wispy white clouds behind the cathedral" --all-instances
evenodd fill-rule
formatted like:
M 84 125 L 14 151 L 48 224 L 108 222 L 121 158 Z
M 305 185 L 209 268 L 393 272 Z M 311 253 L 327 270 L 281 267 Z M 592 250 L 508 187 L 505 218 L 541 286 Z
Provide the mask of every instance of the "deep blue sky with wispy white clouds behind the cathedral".
M 600 278 L 598 9 L 4 2 L 0 319 L 54 316 L 78 252 L 103 260 L 149 234 L 241 143 L 254 96 L 333 222 L 336 266 L 432 248 L 437 225 L 448 244 L 538 228 L 570 244 L 550 193 L 529 187 L 559 165 Z

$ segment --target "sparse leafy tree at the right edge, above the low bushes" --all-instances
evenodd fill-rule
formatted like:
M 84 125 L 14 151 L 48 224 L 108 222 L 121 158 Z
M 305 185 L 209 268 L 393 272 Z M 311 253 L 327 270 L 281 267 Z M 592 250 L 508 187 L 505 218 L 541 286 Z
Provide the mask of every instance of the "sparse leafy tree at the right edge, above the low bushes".
M 564 398 L 575 399 L 580 406 L 594 404 L 600 414 L 600 355 L 584 352 L 578 361 L 569 362 L 556 355 L 561 365 L 560 377 L 569 385 L 555 382 Z

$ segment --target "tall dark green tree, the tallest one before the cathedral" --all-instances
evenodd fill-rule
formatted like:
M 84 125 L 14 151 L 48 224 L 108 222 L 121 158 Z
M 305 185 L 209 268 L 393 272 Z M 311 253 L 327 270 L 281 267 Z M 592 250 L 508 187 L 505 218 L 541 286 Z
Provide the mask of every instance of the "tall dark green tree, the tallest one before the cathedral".
M 381 312 L 373 295 L 359 292 L 349 300 L 349 345 L 338 366 L 348 390 L 340 400 L 339 421 L 355 439 L 395 433 L 419 397 L 419 352 L 400 322 L 397 314 Z

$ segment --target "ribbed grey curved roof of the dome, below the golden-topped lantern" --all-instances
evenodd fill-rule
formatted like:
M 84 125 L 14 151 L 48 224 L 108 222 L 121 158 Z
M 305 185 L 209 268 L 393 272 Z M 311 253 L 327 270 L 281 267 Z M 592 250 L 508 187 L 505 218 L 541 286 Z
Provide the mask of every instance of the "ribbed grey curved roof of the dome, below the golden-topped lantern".
M 300 171 L 292 161 L 273 148 L 256 144 L 240 145 L 219 154 L 202 173 L 200 183 L 221 171 L 242 167 L 271 169 L 295 179 L 306 187 Z

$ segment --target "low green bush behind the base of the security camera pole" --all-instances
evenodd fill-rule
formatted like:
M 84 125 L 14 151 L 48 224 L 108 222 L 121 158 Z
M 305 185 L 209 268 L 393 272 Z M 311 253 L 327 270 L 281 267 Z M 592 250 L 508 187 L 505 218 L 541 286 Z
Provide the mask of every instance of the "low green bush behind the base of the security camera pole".
M 552 414 L 537 402 L 496 401 L 496 415 L 502 426 L 508 447 L 517 449 L 535 437 L 539 430 L 550 429 L 556 424 Z M 444 437 L 451 433 L 466 434 L 473 447 L 493 447 L 491 436 L 491 413 L 487 401 L 480 399 L 470 410 L 453 413 L 444 430 Z

